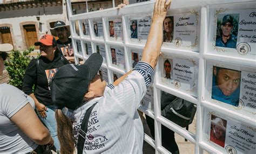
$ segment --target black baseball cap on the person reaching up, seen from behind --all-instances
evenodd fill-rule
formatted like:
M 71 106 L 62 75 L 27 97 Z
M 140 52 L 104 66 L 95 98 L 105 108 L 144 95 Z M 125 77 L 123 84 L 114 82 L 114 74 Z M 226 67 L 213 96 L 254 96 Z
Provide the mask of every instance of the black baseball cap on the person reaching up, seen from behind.
M 103 58 L 93 53 L 83 65 L 68 64 L 59 68 L 52 78 L 52 102 L 60 109 L 75 109 L 82 103 L 91 80 L 102 66 Z

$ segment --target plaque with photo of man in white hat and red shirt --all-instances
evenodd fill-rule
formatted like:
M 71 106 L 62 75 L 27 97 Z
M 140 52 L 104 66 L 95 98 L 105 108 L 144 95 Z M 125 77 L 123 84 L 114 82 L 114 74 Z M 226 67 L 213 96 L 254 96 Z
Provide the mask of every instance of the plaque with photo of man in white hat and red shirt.
M 204 110 L 203 142 L 210 144 L 221 153 L 254 154 L 255 126 L 220 112 Z

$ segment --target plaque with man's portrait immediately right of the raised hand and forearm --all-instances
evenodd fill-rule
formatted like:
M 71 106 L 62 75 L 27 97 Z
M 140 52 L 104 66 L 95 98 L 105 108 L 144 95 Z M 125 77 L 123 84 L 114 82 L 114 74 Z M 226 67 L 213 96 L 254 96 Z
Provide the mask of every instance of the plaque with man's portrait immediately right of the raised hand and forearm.
M 168 10 L 163 22 L 163 48 L 199 52 L 200 8 Z

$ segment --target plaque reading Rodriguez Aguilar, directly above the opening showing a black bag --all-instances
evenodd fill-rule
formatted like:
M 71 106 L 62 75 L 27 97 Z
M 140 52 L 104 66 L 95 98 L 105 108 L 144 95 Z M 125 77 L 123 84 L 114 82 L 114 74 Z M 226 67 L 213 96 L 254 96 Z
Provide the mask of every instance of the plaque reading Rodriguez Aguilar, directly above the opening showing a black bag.
M 197 96 L 198 59 L 163 57 L 159 64 L 163 85 Z

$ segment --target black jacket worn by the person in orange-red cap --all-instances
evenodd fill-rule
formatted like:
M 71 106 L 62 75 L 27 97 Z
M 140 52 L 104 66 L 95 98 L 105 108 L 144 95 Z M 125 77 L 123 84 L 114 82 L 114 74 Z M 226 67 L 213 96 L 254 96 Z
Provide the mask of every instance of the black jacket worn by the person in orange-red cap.
M 25 71 L 23 81 L 24 93 L 27 95 L 34 93 L 37 100 L 45 106 L 53 105 L 49 88 L 53 76 L 52 73 L 65 64 L 69 64 L 69 61 L 63 58 L 63 55 L 58 50 L 55 52 L 55 57 L 52 61 L 42 56 L 39 57 L 38 66 L 37 59 L 32 59 Z M 34 85 L 35 90 L 33 92 L 32 87 Z

